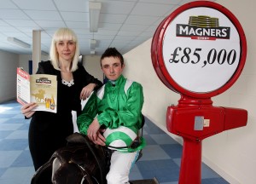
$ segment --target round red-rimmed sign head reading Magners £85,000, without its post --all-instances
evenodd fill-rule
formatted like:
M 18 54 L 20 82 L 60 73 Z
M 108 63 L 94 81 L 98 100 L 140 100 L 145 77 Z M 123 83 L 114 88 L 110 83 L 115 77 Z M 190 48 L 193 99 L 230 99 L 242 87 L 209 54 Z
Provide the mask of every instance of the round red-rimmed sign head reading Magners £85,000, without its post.
M 240 76 L 246 55 L 246 37 L 234 14 L 206 1 L 184 4 L 166 17 L 151 46 L 160 80 L 195 98 L 229 89 Z

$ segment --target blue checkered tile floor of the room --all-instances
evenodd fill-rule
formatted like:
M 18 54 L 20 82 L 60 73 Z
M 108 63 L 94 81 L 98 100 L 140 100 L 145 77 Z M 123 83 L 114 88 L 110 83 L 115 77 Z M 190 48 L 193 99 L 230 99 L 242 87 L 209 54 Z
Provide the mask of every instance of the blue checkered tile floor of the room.
M 27 146 L 29 120 L 20 113 L 20 104 L 0 104 L 0 183 L 29 184 L 34 174 Z M 183 147 L 146 118 L 143 135 L 147 147 L 132 168 L 131 180 L 152 179 L 160 184 L 177 184 Z M 228 184 L 202 164 L 201 184 Z

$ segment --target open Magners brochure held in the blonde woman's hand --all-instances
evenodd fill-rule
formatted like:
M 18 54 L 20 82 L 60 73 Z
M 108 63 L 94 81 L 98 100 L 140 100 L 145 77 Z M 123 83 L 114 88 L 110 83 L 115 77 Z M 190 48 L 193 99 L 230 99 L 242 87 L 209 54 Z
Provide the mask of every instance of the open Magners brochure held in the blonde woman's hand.
M 57 112 L 57 78 L 49 74 L 29 75 L 17 68 L 17 101 L 23 105 L 36 102 L 34 111 Z

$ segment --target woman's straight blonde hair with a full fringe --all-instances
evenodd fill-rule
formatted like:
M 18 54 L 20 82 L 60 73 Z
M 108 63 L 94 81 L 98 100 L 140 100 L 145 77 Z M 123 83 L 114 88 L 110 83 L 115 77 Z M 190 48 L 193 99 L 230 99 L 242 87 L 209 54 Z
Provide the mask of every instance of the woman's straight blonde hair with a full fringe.
M 56 49 L 56 43 L 63 40 L 72 40 L 76 43 L 76 52 L 73 56 L 72 66 L 71 66 L 71 72 L 74 72 L 78 69 L 78 63 L 79 63 L 79 40 L 77 35 L 69 28 L 67 27 L 61 27 L 59 28 L 51 41 L 50 49 L 49 49 L 49 60 L 51 61 L 51 64 L 54 66 L 56 70 L 61 70 L 59 66 L 59 55 L 57 53 Z

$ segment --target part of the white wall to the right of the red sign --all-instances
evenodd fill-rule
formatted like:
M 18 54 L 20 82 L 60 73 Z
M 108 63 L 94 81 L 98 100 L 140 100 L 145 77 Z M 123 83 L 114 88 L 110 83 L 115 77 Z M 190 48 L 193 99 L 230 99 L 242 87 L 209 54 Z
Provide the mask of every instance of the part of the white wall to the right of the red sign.
M 205 162 L 224 170 L 231 183 L 256 183 L 256 35 L 254 0 L 218 0 L 240 21 L 247 37 L 247 61 L 241 77 L 223 95 L 213 98 L 216 106 L 234 106 L 248 112 L 247 126 L 232 129 L 204 141 Z M 255 143 L 254 143 L 255 144 Z

